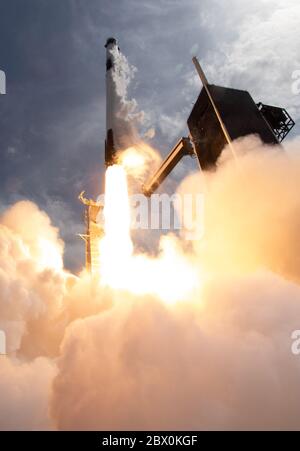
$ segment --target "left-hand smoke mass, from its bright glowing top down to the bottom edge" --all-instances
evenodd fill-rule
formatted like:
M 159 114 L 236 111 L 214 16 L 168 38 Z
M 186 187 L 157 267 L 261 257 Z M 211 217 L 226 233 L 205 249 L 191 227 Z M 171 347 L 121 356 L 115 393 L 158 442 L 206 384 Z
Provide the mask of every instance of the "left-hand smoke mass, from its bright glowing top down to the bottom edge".
M 67 325 L 110 304 L 85 274 L 62 269 L 63 243 L 46 213 L 18 202 L 0 219 L 0 430 L 51 429 L 48 402 Z M 83 302 L 84 300 L 84 302 Z

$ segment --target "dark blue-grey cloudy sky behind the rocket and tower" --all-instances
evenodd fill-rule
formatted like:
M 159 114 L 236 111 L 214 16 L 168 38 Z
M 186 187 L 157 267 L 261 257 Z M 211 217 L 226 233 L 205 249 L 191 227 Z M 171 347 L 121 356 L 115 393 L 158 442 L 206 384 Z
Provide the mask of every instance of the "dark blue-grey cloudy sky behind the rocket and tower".
M 66 266 L 78 269 L 77 196 L 103 192 L 107 37 L 137 69 L 129 96 L 144 112 L 140 133 L 153 128 L 148 143 L 164 156 L 187 133 L 200 90 L 194 55 L 211 83 L 299 120 L 299 21 L 298 0 L 1 0 L 0 209 L 37 203 L 60 229 Z M 299 134 L 296 125 L 289 139 Z M 183 162 L 173 177 L 192 169 Z

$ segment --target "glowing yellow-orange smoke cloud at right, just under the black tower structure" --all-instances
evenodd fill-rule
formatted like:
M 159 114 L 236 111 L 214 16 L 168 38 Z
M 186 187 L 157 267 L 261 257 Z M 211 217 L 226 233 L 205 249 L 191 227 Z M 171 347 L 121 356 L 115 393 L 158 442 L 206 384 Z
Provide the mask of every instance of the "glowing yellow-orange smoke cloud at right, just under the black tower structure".
M 238 166 L 220 163 L 205 178 L 205 254 L 207 265 L 221 271 L 267 267 L 300 281 L 300 153 L 298 141 L 285 151 L 263 146 L 258 138 L 235 143 Z M 229 152 L 224 152 L 224 156 Z M 182 190 L 197 192 L 198 176 Z

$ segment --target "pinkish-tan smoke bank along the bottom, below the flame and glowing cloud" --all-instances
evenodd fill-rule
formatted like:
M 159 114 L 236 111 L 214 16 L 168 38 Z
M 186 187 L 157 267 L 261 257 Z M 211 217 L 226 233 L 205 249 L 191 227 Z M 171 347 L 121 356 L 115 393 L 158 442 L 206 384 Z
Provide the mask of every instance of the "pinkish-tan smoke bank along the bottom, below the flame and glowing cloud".
M 67 331 L 57 427 L 296 428 L 300 368 L 289 338 L 299 299 L 299 287 L 268 274 L 215 280 L 174 310 L 119 294 L 107 314 Z

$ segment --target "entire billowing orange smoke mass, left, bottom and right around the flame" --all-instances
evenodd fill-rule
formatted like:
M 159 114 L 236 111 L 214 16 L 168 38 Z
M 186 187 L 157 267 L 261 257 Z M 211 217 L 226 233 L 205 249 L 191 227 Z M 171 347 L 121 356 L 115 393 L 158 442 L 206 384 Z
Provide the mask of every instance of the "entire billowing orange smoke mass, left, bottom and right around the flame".
M 68 274 L 45 213 L 4 213 L 1 429 L 299 429 L 299 142 L 236 145 L 205 176 L 205 236 L 182 241 L 200 287 L 174 305 Z

